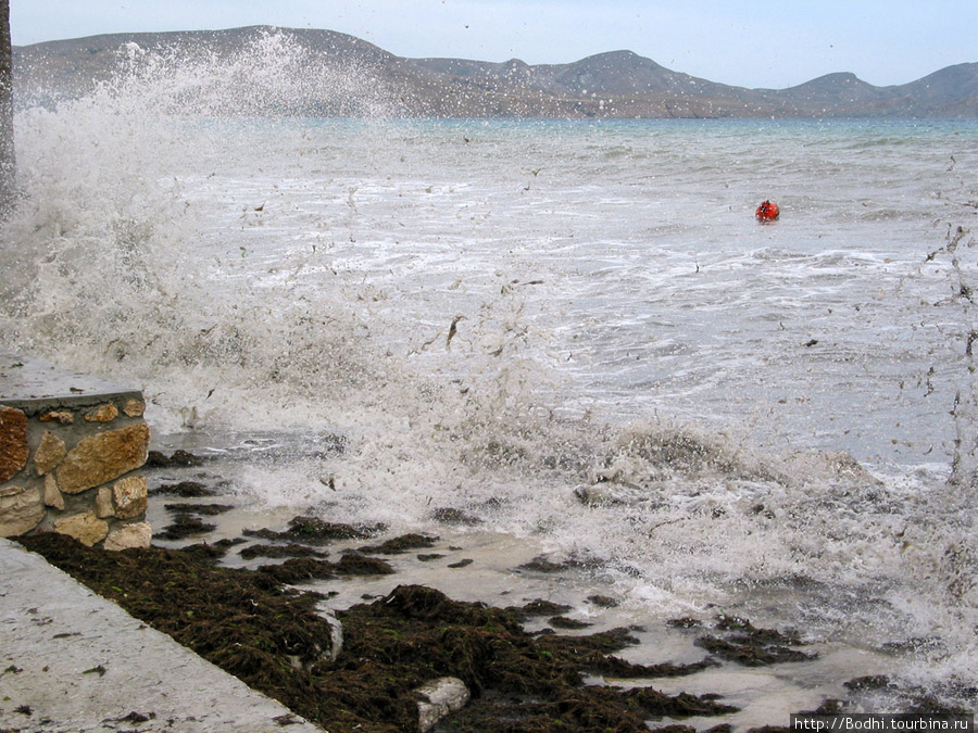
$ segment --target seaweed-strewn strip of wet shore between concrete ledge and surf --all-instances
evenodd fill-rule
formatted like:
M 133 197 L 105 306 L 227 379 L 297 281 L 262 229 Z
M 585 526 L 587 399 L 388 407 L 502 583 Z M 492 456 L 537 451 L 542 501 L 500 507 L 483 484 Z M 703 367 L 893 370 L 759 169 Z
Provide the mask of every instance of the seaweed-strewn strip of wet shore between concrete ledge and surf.
M 156 454 L 148 470 L 193 468 L 198 460 L 190 454 L 174 457 L 186 463 Z M 202 480 L 159 482 L 152 490 L 153 504 L 173 522 L 154 525 L 158 539 L 148 549 L 105 553 L 54 534 L 21 542 L 325 730 L 417 730 L 418 688 L 444 678 L 462 680 L 472 700 L 435 731 L 788 730 L 781 715 L 758 724 L 739 722 L 728 680 L 775 679 L 778 669 L 817 664 L 820 653 L 790 630 L 758 628 L 719 609 L 673 619 L 660 630 L 591 627 L 602 609 L 614 609 L 616 598 L 590 596 L 594 617 L 587 620 L 551 594 L 528 601 L 525 593 L 559 582 L 574 568 L 529 559 L 514 568 L 519 593 L 506 595 L 498 587 L 493 593 L 479 580 L 484 556 L 473 546 L 463 549 L 425 534 L 391 536 L 380 526 L 302 516 L 281 529 L 272 522 L 215 532 L 231 511 L 228 497 L 208 485 L 214 477 L 198 477 Z M 225 536 L 208 541 L 215 534 Z M 179 541 L 191 544 L 155 544 Z M 406 559 L 455 565 L 460 583 L 479 586 L 480 601 L 505 598 L 514 605 L 453 601 L 410 573 L 402 577 L 396 566 Z M 228 567 L 242 561 L 249 567 Z M 335 590 L 338 583 L 342 593 Z M 343 642 L 335 655 L 334 623 L 323 611 L 341 605 L 347 607 L 335 615 Z M 666 637 L 677 641 L 660 646 Z M 892 687 L 880 674 L 840 680 L 845 699 L 823 696 L 791 711 L 858 710 Z M 904 711 L 949 711 L 906 692 Z M 654 722 L 647 726 L 648 720 Z

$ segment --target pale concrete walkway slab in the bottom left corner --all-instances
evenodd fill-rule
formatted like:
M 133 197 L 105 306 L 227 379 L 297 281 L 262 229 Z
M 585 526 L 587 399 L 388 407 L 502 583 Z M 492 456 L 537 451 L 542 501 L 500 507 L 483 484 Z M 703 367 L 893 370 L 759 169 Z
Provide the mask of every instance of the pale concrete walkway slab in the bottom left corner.
M 0 539 L 0 730 L 323 729 Z

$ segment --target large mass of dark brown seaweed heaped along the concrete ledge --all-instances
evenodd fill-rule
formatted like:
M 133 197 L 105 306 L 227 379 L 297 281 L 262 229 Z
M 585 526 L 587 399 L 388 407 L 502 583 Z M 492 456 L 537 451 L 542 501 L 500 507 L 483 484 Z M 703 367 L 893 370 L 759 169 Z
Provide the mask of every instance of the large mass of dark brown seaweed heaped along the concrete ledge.
M 414 691 L 449 675 L 465 682 L 473 700 L 439 730 L 637 733 L 647 731 L 644 721 L 653 717 L 723 716 L 735 709 L 712 695 L 585 684 L 587 673 L 689 674 L 713 664 L 709 660 L 631 665 L 610 656 L 638 643 L 628 629 L 535 637 L 512 611 L 455 602 L 419 585 L 400 585 L 339 612 L 344 646 L 331 660 L 331 625 L 315 612 L 323 596 L 284 590 L 272 568 L 328 574 L 346 564 L 352 572 L 386 565 L 378 558 L 346 555 L 337 564 L 293 558 L 251 571 L 205 567 L 186 553 L 160 547 L 109 553 L 59 534 L 21 542 L 327 730 L 416 730 Z

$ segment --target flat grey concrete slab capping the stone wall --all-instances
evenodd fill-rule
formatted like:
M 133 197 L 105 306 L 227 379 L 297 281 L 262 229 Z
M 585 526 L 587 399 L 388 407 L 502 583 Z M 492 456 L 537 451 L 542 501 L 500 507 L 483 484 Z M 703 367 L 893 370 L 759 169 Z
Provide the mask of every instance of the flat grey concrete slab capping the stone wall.
M 138 388 L 62 369 L 0 349 L 0 404 L 34 415 L 40 410 L 118 396 L 142 399 Z

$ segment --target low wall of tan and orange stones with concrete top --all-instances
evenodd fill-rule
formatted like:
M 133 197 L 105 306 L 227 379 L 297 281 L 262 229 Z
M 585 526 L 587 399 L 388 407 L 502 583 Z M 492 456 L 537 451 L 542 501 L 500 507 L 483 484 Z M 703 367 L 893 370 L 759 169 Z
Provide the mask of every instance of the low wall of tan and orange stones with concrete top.
M 0 351 L 0 536 L 148 547 L 145 408 L 138 390 Z

